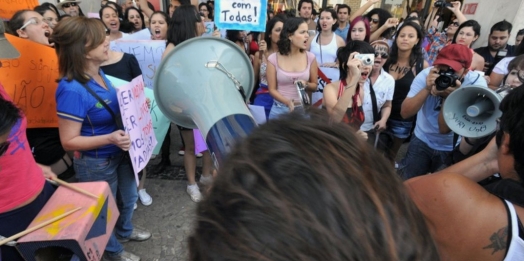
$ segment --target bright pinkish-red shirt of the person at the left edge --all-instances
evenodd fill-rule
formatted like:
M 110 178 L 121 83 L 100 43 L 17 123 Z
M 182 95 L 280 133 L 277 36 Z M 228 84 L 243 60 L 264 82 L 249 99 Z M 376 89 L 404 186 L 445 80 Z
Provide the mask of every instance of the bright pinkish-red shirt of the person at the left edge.
M 0 96 L 8 101 L 2 84 Z M 27 119 L 25 115 L 11 129 L 7 152 L 0 157 L 0 213 L 7 212 L 29 199 L 36 197 L 44 187 L 42 169 L 36 165 L 25 134 Z

